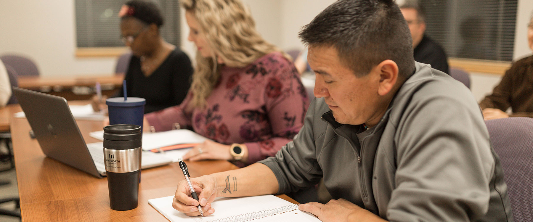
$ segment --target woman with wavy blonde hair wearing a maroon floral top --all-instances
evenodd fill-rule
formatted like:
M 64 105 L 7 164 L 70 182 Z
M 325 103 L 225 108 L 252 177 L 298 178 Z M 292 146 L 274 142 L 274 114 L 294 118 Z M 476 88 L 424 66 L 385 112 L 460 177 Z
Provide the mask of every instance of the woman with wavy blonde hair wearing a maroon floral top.
M 308 97 L 288 55 L 266 42 L 238 0 L 182 1 L 198 48 L 189 94 L 181 105 L 146 114 L 156 130 L 196 131 L 206 141 L 184 159 L 235 160 L 240 166 L 273 156 L 303 126 Z M 240 163 L 239 163 L 240 162 Z

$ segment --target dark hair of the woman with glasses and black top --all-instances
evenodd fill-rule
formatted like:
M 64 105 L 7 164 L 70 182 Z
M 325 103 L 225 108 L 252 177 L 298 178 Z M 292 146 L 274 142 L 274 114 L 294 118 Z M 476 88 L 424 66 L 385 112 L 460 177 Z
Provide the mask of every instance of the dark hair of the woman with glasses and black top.
M 163 26 L 163 16 L 156 3 L 147 0 L 131 0 L 126 2 L 126 5 L 133 7 L 133 14 L 128 14 L 122 17 L 123 19 L 134 17 L 147 24 L 154 23 L 157 27 Z

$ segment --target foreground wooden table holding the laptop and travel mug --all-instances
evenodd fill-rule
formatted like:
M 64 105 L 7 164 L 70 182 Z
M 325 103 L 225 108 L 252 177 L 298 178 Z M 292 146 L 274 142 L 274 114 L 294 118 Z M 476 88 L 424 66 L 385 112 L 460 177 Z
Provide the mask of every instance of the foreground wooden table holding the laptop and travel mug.
M 106 178 L 45 158 L 37 140 L 29 137 L 26 118 L 11 116 L 10 120 L 22 221 L 168 221 L 148 200 L 174 194 L 177 182 L 183 179 L 177 163 L 142 170 L 139 206 L 128 211 L 111 210 Z M 101 130 L 101 122 L 78 120 L 77 124 L 86 143 L 98 142 L 88 133 Z M 187 165 L 191 177 L 238 168 L 228 161 Z M 297 203 L 285 195 L 280 197 Z

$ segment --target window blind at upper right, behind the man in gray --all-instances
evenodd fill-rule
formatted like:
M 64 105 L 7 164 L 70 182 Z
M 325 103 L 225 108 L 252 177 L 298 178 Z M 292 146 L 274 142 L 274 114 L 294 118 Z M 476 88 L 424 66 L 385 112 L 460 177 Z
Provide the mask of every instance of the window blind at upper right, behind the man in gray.
M 512 61 L 517 0 L 422 0 L 426 34 L 448 57 Z

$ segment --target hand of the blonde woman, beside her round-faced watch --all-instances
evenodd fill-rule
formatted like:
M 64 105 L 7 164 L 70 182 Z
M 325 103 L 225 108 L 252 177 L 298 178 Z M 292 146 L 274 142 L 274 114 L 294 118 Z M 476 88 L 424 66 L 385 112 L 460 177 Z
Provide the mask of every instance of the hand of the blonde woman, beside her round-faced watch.
M 204 143 L 193 147 L 183 156 L 183 160 L 233 160 L 230 154 L 230 145 L 224 145 L 206 139 Z

